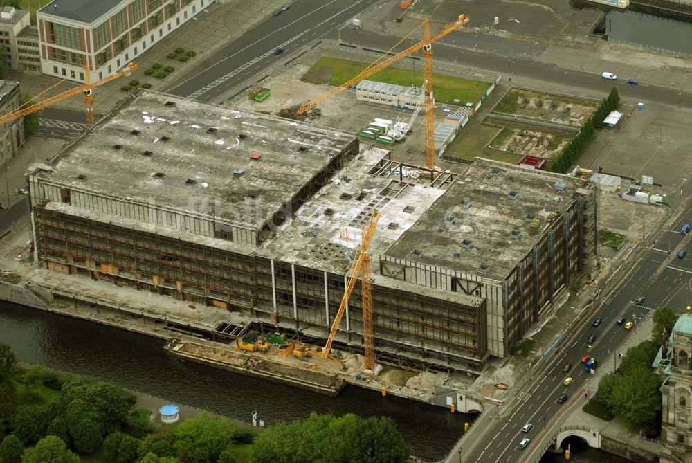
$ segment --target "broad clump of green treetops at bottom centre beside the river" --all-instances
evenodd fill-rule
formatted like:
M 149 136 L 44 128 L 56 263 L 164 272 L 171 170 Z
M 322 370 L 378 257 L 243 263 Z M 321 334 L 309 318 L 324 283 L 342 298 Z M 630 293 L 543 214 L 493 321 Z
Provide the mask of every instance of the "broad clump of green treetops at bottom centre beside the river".
M 313 413 L 308 419 L 277 424 L 255 438 L 253 461 L 397 463 L 410 449 L 390 418 Z

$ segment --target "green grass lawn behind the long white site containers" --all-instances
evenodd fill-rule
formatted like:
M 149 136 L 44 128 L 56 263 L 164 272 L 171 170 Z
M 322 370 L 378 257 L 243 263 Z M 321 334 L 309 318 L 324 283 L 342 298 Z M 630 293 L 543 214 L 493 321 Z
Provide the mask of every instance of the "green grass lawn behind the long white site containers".
M 340 60 L 323 56 L 310 68 L 302 80 L 316 84 L 340 85 L 347 80 L 354 78 L 361 73 L 369 64 L 359 61 Z M 368 80 L 385 82 L 388 84 L 404 85 L 411 84 L 420 87 L 423 84 L 423 69 L 421 64 L 417 66 L 415 73 L 413 69 L 388 68 L 371 75 Z M 466 102 L 476 103 L 490 87 L 488 82 L 455 78 L 449 75 L 435 74 L 432 84 L 432 91 L 435 93 L 435 101 L 464 105 Z

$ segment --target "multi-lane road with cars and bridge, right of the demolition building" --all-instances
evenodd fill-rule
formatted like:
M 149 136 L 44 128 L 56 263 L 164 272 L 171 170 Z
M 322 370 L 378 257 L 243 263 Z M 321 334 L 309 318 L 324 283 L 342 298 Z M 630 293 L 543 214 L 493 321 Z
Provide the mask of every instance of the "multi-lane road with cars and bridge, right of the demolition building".
M 686 197 L 692 195 L 692 181 L 685 181 L 682 192 Z M 691 235 L 681 235 L 680 228 L 685 222 L 692 221 L 692 204 L 685 204 L 684 212 L 662 230 L 645 230 L 648 247 L 641 250 L 643 255 L 637 260 L 630 257 L 631 264 L 625 264 L 619 271 L 628 272 L 623 283 L 610 296 L 600 302 L 595 309 L 574 329 L 576 333 L 567 336 L 565 349 L 557 358 L 549 359 L 549 368 L 533 387 L 523 392 L 513 412 L 508 417 L 495 419 L 482 439 L 478 440 L 470 452 L 463 453 L 464 462 L 524 462 L 532 446 L 522 450 L 518 444 L 522 437 L 530 440 L 538 436 L 543 429 L 551 426 L 551 421 L 562 408 L 574 401 L 585 399 L 585 394 L 594 393 L 597 384 L 589 384 L 590 374 L 585 371 L 581 357 L 588 354 L 597 359 L 599 368 L 614 370 L 619 362 L 620 343 L 630 334 L 623 325 L 617 325 L 617 319 L 625 317 L 635 322 L 650 316 L 655 307 L 671 305 L 686 307 L 692 296 L 692 260 L 678 259 L 677 252 L 684 248 L 692 251 Z M 668 253 L 670 249 L 671 253 Z M 692 255 L 692 254 L 691 254 Z M 635 262 L 636 260 L 636 262 Z M 623 274 L 625 275 L 625 274 Z M 639 296 L 646 297 L 643 305 L 636 305 Z M 592 320 L 600 316 L 599 327 L 592 325 Z M 636 325 L 633 329 L 637 329 Z M 596 340 L 588 345 L 587 338 L 594 334 Z M 568 372 L 562 368 L 566 363 L 571 367 Z M 572 377 L 570 385 L 563 385 L 567 376 Z M 558 403 L 561 394 L 567 394 L 567 403 Z M 522 433 L 524 424 L 531 423 L 534 429 Z

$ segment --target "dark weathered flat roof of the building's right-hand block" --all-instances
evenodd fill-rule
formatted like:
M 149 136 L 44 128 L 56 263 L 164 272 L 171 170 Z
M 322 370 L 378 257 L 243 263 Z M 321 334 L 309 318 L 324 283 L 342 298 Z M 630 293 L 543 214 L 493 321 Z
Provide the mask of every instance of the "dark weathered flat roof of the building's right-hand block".
M 503 280 L 585 185 L 588 181 L 477 159 L 386 255 Z

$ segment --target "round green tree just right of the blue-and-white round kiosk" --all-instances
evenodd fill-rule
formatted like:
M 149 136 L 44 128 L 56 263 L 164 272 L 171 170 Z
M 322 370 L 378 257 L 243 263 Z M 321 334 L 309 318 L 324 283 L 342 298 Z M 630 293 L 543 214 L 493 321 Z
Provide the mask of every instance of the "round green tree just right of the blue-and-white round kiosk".
M 186 461 L 215 462 L 239 435 L 238 427 L 228 419 L 202 413 L 183 421 L 176 428 L 173 448 L 179 455 L 184 455 Z

